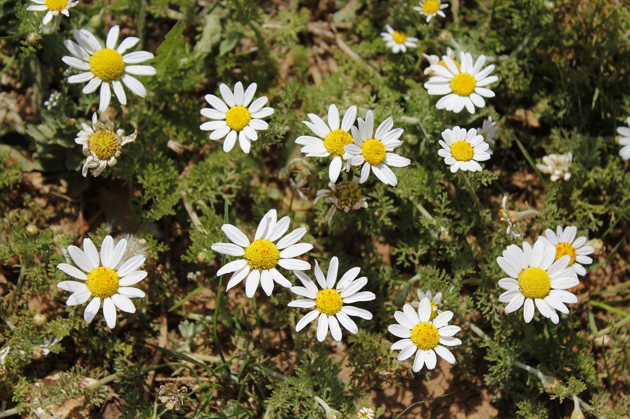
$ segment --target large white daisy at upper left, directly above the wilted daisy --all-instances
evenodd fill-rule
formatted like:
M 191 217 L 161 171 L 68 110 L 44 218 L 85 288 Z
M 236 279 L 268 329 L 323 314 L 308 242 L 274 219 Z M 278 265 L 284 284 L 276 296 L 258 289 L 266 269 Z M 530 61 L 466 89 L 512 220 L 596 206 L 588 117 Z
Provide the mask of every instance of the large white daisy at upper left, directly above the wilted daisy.
M 117 49 L 116 42 L 120 28 L 118 25 L 112 26 L 107 34 L 105 48 L 94 35 L 84 29 L 72 32 L 77 43 L 71 40 L 64 41 L 67 50 L 74 57 L 62 57 L 63 62 L 75 69 L 85 72 L 68 77 L 70 83 L 88 82 L 83 87 L 83 92 L 88 94 L 96 91 L 101 86 L 101 100 L 98 110 L 105 112 L 112 99 L 112 89 L 121 104 L 127 104 L 127 96 L 122 88 L 122 84 L 129 88 L 140 98 L 147 96 L 147 91 L 135 77 L 135 75 L 154 75 L 156 69 L 151 65 L 128 65 L 138 64 L 153 58 L 153 54 L 146 51 L 130 52 L 122 55 L 129 48 L 138 43 L 139 38 L 129 36 L 120 43 Z M 122 82 L 122 83 L 121 83 Z M 110 87 L 111 84 L 111 87 Z

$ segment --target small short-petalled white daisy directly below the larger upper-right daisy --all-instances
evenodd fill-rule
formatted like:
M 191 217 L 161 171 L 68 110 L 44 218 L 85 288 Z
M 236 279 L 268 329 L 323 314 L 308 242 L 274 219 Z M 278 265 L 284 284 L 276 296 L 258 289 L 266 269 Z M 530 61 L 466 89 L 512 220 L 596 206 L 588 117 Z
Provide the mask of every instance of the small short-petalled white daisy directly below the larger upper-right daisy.
M 442 148 L 437 154 L 444 157 L 444 162 L 450 165 L 450 171 L 455 173 L 458 169 L 470 170 L 471 172 L 481 172 L 483 162 L 490 159 L 488 148 L 490 145 L 484 142 L 483 137 L 478 135 L 477 130 L 468 130 L 455 126 L 452 130 L 442 131 L 440 145 Z

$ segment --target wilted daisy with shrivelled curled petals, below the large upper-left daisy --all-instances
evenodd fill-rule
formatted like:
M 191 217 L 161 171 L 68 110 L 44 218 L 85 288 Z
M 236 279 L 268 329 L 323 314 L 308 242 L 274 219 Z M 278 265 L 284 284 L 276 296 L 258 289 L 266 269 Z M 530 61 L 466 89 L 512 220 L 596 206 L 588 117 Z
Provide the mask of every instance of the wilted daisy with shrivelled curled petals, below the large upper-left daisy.
M 135 140 L 137 131 L 123 137 L 124 131 L 114 132 L 114 125 L 110 118 L 106 117 L 106 123 L 98 121 L 96 112 L 92 115 L 92 128 L 88 124 L 81 124 L 83 130 L 77 133 L 74 142 L 83 145 L 83 155 L 88 158 L 83 164 L 81 174 L 88 176 L 88 169 L 94 170 L 94 177 L 103 172 L 105 167 L 113 166 L 120 157 L 122 146 Z

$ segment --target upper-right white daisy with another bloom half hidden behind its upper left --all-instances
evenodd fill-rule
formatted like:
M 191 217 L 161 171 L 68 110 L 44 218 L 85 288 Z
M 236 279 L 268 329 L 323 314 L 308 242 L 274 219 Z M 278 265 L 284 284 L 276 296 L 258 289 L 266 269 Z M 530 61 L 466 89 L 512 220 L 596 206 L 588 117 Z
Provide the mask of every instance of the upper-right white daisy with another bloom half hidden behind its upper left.
M 449 57 L 442 57 L 446 67 L 434 64 L 431 69 L 437 73 L 425 83 L 429 94 L 443 96 L 437 101 L 438 109 L 461 112 L 464 107 L 470 113 L 474 113 L 474 107 L 483 108 L 486 106 L 486 98 L 494 98 L 495 92 L 487 89 L 488 84 L 497 81 L 496 75 L 489 75 L 495 69 L 495 65 L 488 65 L 485 69 L 481 67 L 486 63 L 486 56 L 479 55 L 473 65 L 473 55 L 469 52 L 461 52 L 461 67 L 457 67 L 455 62 Z M 444 96 L 445 95 L 445 96 Z

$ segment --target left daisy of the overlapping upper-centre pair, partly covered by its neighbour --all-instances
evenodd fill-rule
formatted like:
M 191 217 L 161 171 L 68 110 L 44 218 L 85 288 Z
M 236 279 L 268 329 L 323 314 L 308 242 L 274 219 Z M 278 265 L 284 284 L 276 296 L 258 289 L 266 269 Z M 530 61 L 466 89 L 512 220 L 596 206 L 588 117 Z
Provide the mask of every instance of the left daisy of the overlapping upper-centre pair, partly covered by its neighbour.
M 348 154 L 343 147 L 352 144 L 352 135 L 348 131 L 357 118 L 357 106 L 352 105 L 348 108 L 343 115 L 341 125 L 339 111 L 334 103 L 328 106 L 328 125 L 314 113 L 309 113 L 308 116 L 311 122 L 302 122 L 319 138 L 301 135 L 295 142 L 304 145 L 300 151 L 306 153 L 306 157 L 332 157 L 328 167 L 328 177 L 331 182 L 336 182 L 343 165 L 341 159 L 348 159 Z M 350 170 L 348 163 L 346 169 Z

